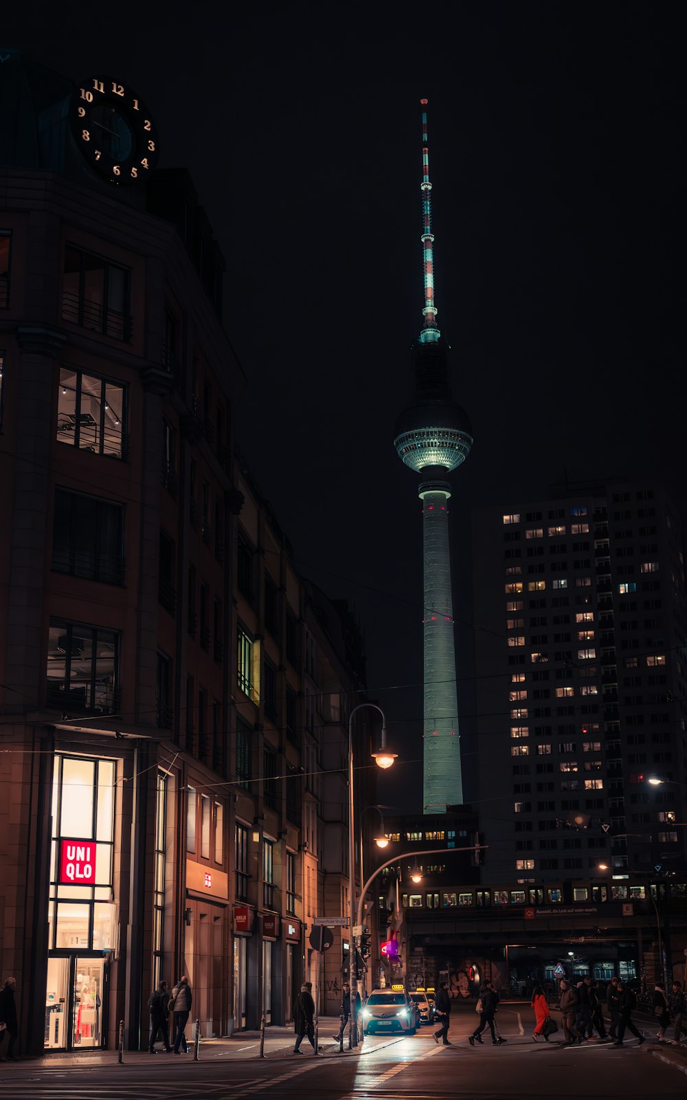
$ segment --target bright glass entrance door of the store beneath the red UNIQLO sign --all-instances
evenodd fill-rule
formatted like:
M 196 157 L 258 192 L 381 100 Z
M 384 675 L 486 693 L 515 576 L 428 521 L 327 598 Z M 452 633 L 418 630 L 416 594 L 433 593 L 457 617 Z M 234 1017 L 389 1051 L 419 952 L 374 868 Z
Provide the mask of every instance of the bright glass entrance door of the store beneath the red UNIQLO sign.
M 47 963 L 45 1047 L 82 1050 L 103 1045 L 108 964 L 101 956 L 52 954 Z

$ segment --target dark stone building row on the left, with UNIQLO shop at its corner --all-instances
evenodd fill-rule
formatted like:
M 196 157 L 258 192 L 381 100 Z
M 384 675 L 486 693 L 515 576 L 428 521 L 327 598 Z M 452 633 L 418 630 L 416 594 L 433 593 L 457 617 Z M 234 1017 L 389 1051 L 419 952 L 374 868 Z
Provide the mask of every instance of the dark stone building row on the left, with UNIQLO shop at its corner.
M 0 79 L 0 965 L 21 1049 L 113 1048 L 120 1021 L 137 1048 L 184 972 L 203 1035 L 281 1023 L 306 961 L 285 779 L 306 601 L 277 562 L 275 603 L 255 558 L 242 606 L 265 505 L 233 464 L 224 262 L 186 173 L 98 175 L 78 88 L 13 51 Z

